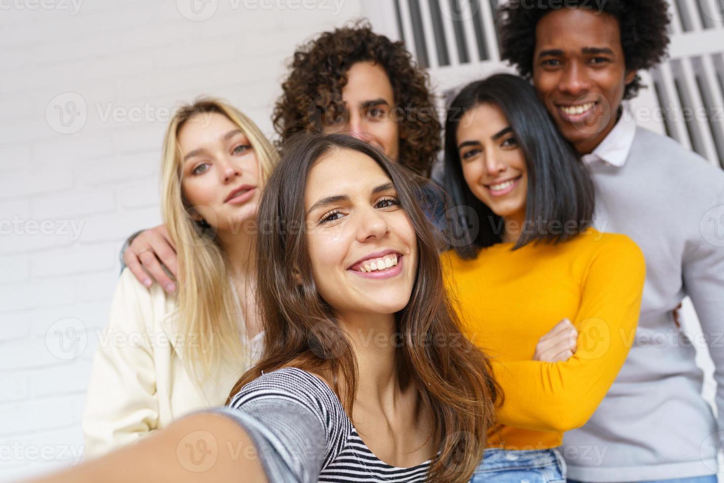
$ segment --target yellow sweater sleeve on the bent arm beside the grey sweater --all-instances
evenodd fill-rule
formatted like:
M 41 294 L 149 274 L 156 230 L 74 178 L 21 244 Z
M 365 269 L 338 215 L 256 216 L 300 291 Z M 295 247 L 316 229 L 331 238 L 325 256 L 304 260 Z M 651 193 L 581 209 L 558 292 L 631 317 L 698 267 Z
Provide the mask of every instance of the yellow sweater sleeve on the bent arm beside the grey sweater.
M 646 264 L 636 243 L 611 238 L 594 256 L 572 320 L 578 348 L 568 361 L 493 361 L 505 402 L 499 421 L 565 432 L 586 424 L 603 400 L 636 336 Z

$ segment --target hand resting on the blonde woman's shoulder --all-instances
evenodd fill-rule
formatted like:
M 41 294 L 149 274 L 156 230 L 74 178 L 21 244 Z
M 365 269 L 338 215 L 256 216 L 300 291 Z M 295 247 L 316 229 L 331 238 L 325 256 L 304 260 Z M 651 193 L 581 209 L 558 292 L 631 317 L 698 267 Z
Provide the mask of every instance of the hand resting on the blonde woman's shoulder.
M 161 266 L 163 264 L 177 277 L 176 247 L 163 224 L 136 235 L 123 252 L 123 263 L 146 287 L 151 287 L 153 280 L 156 280 L 167 292 L 176 290 L 176 283 Z

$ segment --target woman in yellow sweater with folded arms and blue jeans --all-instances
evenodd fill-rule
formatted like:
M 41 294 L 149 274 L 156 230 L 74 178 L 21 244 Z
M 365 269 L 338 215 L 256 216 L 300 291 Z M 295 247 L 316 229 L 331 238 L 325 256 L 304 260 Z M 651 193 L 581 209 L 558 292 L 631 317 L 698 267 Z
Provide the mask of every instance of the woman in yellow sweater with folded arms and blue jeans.
M 644 257 L 625 235 L 590 226 L 588 172 L 519 77 L 460 91 L 447 113 L 445 169 L 458 211 L 454 249 L 442 256 L 447 286 L 505 395 L 472 481 L 564 481 L 556 448 L 626 360 Z

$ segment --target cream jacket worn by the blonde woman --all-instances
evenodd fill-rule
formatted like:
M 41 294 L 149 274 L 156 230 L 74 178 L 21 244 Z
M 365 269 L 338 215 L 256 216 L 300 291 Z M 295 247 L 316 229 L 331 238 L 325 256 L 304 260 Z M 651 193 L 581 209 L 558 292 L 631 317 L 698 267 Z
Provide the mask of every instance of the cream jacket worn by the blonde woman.
M 90 372 L 83 415 L 86 458 L 135 442 L 191 411 L 226 403 L 248 368 L 222 366 L 213 371 L 215 380 L 197 385 L 181 349 L 200 341 L 181 334 L 176 321 L 174 295 L 157 283 L 147 289 L 123 270 Z M 251 342 L 253 357 L 260 336 Z

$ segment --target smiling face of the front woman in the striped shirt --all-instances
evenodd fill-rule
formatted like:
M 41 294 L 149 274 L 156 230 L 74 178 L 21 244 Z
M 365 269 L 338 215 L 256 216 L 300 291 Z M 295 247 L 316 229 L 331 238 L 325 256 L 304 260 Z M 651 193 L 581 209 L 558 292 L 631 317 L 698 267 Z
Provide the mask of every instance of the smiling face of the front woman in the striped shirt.
M 335 315 L 403 309 L 417 273 L 417 239 L 382 167 L 358 151 L 327 154 L 309 173 L 304 204 L 312 276 Z

